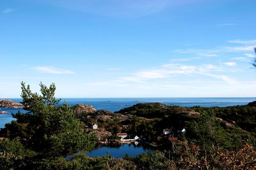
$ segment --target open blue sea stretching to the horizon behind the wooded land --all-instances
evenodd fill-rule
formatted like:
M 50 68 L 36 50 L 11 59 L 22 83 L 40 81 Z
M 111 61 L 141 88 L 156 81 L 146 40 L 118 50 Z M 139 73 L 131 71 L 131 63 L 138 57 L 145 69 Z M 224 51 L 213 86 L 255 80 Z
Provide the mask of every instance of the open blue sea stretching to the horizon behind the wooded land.
M 21 98 L 5 100 L 12 100 L 14 102 L 22 101 Z M 76 104 L 88 104 L 92 105 L 97 110 L 104 109 L 115 112 L 122 108 L 133 106 L 137 103 L 146 102 L 160 102 L 167 105 L 178 105 L 184 107 L 192 107 L 198 105 L 203 107 L 225 107 L 233 105 L 244 105 L 255 100 L 256 98 L 63 98 L 61 99 L 59 105 L 63 102 L 67 102 L 71 106 Z M 0 114 L 0 128 L 3 128 L 5 123 L 14 120 L 11 115 L 12 113 L 17 113 L 18 111 L 23 113 L 26 112 L 20 108 L 0 108 L 0 111 L 8 112 L 7 114 Z

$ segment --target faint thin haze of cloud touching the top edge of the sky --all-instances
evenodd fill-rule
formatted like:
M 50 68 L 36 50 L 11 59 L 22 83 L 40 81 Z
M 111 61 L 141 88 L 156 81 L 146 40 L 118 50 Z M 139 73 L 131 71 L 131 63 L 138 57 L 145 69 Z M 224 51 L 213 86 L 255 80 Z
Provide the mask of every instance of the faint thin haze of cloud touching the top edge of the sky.
M 138 17 L 198 1 L 201 0 L 44 0 L 43 2 L 97 15 Z

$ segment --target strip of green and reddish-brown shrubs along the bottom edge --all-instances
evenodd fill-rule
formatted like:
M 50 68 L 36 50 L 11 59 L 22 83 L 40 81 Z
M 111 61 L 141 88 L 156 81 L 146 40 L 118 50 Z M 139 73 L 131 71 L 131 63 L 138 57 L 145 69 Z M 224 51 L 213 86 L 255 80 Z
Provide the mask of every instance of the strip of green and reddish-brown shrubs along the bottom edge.
M 2 146 L 1 141 L 1 146 Z M 5 141 L 6 142 L 6 141 Z M 17 141 L 16 141 L 17 142 Z M 8 141 L 9 143 L 9 141 Z M 1 147 L 2 149 L 2 147 Z M 15 153 L 17 148 L 0 152 L 1 170 L 231 170 L 231 169 L 256 169 L 256 151 L 250 144 L 244 143 L 243 147 L 235 151 L 219 151 L 212 147 L 207 155 L 200 146 L 194 143 L 180 143 L 175 153 L 168 154 L 160 151 L 148 154 L 138 154 L 136 157 L 124 156 L 112 158 L 108 154 L 101 157 L 88 157 L 85 153 L 78 153 L 70 160 L 61 156 L 40 157 Z M 27 152 L 24 150 L 24 152 Z

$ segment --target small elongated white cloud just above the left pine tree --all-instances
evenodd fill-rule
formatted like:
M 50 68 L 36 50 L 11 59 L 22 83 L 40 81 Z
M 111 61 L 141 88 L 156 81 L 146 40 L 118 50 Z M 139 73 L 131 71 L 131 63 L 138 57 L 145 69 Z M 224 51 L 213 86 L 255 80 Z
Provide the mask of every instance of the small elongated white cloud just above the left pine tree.
M 67 69 L 60 69 L 55 67 L 33 67 L 32 69 L 37 70 L 41 73 L 49 73 L 49 74 L 74 74 L 74 71 L 67 70 Z

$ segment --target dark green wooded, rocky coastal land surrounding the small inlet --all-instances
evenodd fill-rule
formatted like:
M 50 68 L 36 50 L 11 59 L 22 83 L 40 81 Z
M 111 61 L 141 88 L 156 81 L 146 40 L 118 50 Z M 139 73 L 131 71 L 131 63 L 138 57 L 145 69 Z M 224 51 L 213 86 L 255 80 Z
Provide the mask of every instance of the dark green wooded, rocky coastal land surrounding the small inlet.
M 40 84 L 41 95 L 21 85 L 27 113 L 13 114 L 16 120 L 0 130 L 1 170 L 256 169 L 256 102 L 190 108 L 138 103 L 116 113 L 91 107 L 83 112 L 81 105 L 57 106 L 54 84 Z M 98 130 L 89 129 L 94 123 Z M 177 141 L 162 135 L 166 128 Z M 186 134 L 178 133 L 183 128 Z M 98 141 L 119 140 L 121 132 L 156 142 L 166 152 L 86 156 Z

